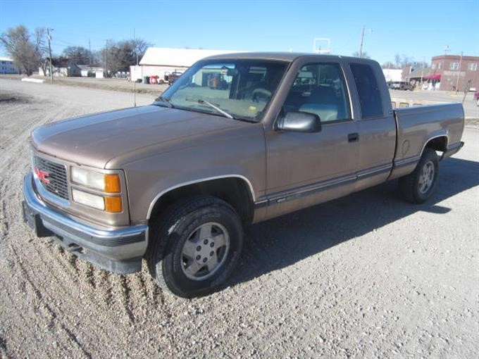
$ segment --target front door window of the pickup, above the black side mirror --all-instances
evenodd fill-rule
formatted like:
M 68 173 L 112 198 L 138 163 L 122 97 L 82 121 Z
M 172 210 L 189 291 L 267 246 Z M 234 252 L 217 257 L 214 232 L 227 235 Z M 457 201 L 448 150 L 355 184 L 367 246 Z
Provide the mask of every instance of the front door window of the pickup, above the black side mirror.
M 311 63 L 303 66 L 290 89 L 284 109 L 286 112 L 314 113 L 321 122 L 351 118 L 340 65 Z

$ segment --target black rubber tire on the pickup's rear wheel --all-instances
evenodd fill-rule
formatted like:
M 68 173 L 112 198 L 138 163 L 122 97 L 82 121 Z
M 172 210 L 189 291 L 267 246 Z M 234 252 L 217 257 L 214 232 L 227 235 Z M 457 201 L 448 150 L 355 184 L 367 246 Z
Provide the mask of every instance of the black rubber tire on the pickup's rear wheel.
M 430 166 L 431 164 L 434 169 L 432 182 L 428 187 L 423 188 L 424 182 L 421 182 L 421 176 L 424 174 L 423 171 L 426 170 L 425 166 Z M 433 149 L 426 147 L 416 169 L 409 175 L 399 178 L 399 191 L 402 198 L 411 203 L 424 203 L 433 194 L 438 177 L 439 160 L 437 160 L 437 153 Z M 423 191 L 421 191 L 421 188 Z

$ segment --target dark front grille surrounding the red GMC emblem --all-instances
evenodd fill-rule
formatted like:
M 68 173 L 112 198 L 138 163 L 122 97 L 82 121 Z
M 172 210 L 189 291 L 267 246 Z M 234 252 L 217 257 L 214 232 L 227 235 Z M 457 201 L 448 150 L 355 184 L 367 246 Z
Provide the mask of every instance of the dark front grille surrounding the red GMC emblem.
M 45 179 L 49 183 L 45 183 L 44 181 L 40 180 L 44 189 L 68 201 L 69 196 L 68 180 L 66 177 L 66 165 L 61 165 L 60 163 L 55 163 L 51 160 L 46 160 L 45 158 L 34 156 L 33 166 L 34 168 L 37 168 L 38 170 L 46 172 L 48 174 L 47 176 L 45 176 Z

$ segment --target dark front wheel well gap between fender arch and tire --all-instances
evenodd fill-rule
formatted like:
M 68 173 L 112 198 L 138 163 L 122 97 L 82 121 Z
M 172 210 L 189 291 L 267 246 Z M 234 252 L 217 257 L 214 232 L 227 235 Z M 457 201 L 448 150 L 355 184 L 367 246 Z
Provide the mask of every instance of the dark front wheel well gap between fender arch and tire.
M 253 220 L 254 201 L 251 190 L 247 182 L 239 177 L 208 180 L 172 189 L 156 200 L 150 218 L 157 217 L 176 201 L 197 194 L 209 194 L 223 199 L 235 208 L 245 224 Z

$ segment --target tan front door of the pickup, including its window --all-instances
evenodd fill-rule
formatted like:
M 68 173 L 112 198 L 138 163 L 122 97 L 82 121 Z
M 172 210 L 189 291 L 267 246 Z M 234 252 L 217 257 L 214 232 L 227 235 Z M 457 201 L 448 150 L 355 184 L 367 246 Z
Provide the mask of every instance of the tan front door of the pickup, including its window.
M 318 115 L 322 129 L 266 133 L 268 218 L 349 194 L 356 181 L 358 129 L 340 63 L 300 65 L 288 111 Z

